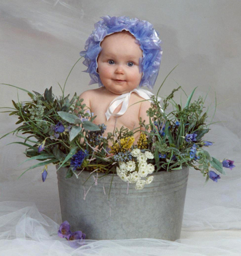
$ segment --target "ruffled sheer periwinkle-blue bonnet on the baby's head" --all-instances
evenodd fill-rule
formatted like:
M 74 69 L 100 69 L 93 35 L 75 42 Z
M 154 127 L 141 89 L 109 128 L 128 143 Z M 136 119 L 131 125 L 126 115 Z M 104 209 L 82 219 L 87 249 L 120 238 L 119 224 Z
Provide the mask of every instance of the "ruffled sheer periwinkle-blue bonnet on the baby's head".
M 126 30 L 137 39 L 137 43 L 140 44 L 142 50 L 143 57 L 140 58 L 139 67 L 140 72 L 143 73 L 139 87 L 147 86 L 149 89 L 153 89 L 159 73 L 162 56 L 159 33 L 146 20 L 130 19 L 126 16 L 104 16 L 101 18 L 103 20 L 95 23 L 95 29 L 85 43 L 85 51 L 80 52 L 80 56 L 85 57 L 83 64 L 88 67 L 84 72 L 89 73 L 89 76 L 91 76 L 89 85 L 98 83 L 99 87 L 103 86 L 96 70 L 97 57 L 102 50 L 100 43 L 104 37 Z

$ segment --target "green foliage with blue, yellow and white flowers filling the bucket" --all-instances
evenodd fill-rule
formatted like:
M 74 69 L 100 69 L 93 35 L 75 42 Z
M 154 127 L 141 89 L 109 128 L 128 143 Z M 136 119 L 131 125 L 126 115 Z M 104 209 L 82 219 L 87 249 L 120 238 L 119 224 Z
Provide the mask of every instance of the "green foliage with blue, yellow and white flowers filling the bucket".
M 63 93 L 59 97 L 52 93 L 52 87 L 41 94 L 2 84 L 21 89 L 31 97 L 31 101 L 12 101 L 14 108 L 6 108 L 10 110 L 3 112 L 18 116 L 16 124 L 21 125 L 7 134 L 16 133 L 17 137 L 24 139 L 24 142 L 13 143 L 27 147 L 24 154 L 28 159 L 24 162 L 40 161 L 26 171 L 43 167 L 43 182 L 47 178 L 49 164 L 55 164 L 57 171 L 66 167 L 66 178 L 73 175 L 78 178 L 83 170 L 91 174 L 99 172 L 101 177 L 117 174 L 124 182 L 134 183 L 135 189 L 143 189 L 151 183 L 153 176 L 150 175 L 157 171 L 179 170 L 188 166 L 201 171 L 206 182 L 209 178 L 217 182 L 220 175 L 210 168 L 225 175 L 223 167 L 231 170 L 235 167 L 234 161 L 217 160 L 205 149 L 213 145 L 213 142 L 202 139 L 212 121 L 206 124 L 208 112 L 204 112 L 205 100 L 202 97 L 191 102 L 196 88 L 187 97 L 185 106 L 173 100 L 174 93 L 181 87 L 163 100 L 162 107 L 157 96 L 153 96 L 152 107 L 147 110 L 149 124 L 140 119 L 142 130 L 137 145 L 134 145 L 133 135 L 140 131 L 140 127 L 135 132 L 124 126 L 119 130 L 115 127 L 113 133 L 103 137 L 106 125 L 94 124 L 96 116 L 82 104 L 83 99 L 79 99 L 76 93 L 72 99 L 69 99 L 70 94 L 64 95 L 66 82 L 67 79 L 63 88 L 59 85 Z M 169 104 L 174 110 L 167 113 Z M 18 134 L 20 132 L 21 135 Z M 25 137 L 24 134 L 29 135 Z

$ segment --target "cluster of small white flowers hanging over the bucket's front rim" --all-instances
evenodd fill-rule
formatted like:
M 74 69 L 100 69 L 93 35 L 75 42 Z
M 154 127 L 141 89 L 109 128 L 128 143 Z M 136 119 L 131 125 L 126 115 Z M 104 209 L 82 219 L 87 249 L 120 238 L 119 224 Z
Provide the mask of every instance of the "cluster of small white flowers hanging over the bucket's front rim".
M 154 177 L 147 177 L 147 175 L 152 174 L 155 168 L 153 164 L 147 163 L 147 159 L 153 159 L 154 155 L 148 151 L 141 153 L 139 148 L 133 149 L 131 155 L 137 158 L 138 168 L 136 168 L 134 161 L 119 162 L 119 168 L 116 168 L 116 172 L 124 182 L 135 183 L 135 189 L 141 190 L 146 184 L 153 181 Z

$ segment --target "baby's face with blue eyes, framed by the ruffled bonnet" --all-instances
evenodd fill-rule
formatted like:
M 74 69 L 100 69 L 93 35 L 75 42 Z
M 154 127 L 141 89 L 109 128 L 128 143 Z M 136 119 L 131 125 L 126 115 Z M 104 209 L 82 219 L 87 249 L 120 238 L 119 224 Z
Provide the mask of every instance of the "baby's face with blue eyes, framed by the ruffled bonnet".
M 139 58 L 142 50 L 129 33 L 114 33 L 101 42 L 102 51 L 97 59 L 100 79 L 114 94 L 124 94 L 137 88 L 142 73 Z

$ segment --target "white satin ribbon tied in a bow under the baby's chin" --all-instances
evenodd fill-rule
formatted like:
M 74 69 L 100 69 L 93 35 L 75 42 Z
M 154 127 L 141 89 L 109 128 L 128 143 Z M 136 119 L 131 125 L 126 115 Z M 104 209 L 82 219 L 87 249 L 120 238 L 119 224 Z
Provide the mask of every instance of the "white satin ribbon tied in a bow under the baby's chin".
M 133 89 L 131 92 L 129 93 L 124 93 L 118 97 L 116 97 L 116 99 L 112 100 L 110 102 L 110 105 L 106 111 L 106 118 L 107 118 L 107 121 L 109 120 L 110 116 L 122 116 L 128 106 L 129 106 L 129 101 L 130 101 L 130 97 L 131 97 L 131 93 L 137 93 L 139 96 L 141 96 L 142 98 L 144 98 L 145 100 L 150 100 L 150 96 L 152 95 L 155 95 L 145 89 L 142 89 L 142 88 L 135 88 Z M 159 105 L 160 105 L 160 101 L 161 101 L 161 97 L 157 96 L 157 99 L 159 100 Z M 150 101 L 153 101 L 153 100 L 150 100 Z M 122 104 L 122 108 L 120 109 L 120 111 L 117 113 L 117 114 L 113 114 L 113 112 L 115 111 L 115 109 L 119 106 L 119 104 Z M 161 105 L 160 105 L 161 107 Z M 162 110 L 162 108 L 161 108 Z M 163 110 L 162 110 L 163 111 Z

